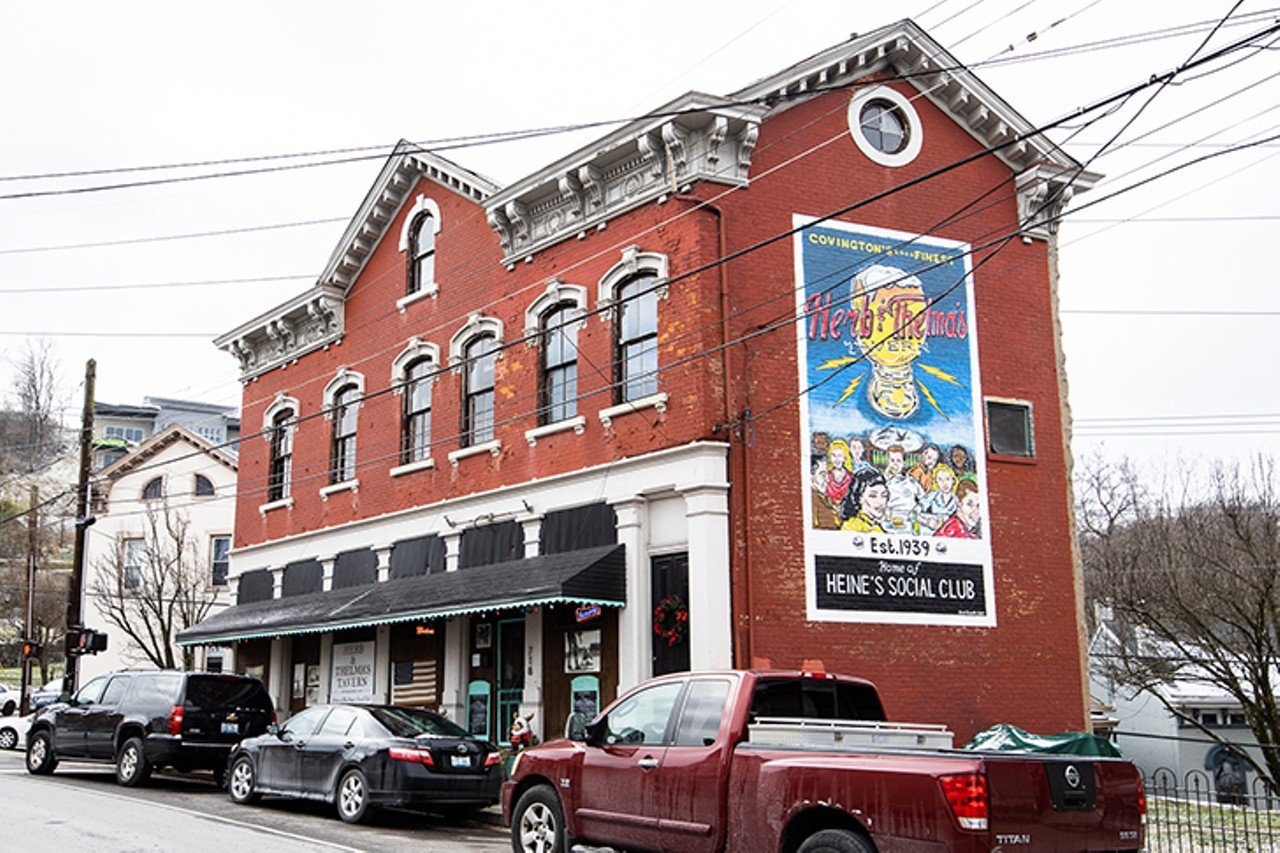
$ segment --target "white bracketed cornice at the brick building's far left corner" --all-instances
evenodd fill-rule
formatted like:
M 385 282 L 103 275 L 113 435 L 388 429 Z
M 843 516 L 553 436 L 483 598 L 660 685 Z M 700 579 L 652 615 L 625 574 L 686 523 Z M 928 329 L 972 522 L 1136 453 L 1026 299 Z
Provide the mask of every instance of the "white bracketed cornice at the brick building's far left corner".
M 255 379 L 343 336 L 342 288 L 317 284 L 216 338 L 241 362 L 241 382 Z

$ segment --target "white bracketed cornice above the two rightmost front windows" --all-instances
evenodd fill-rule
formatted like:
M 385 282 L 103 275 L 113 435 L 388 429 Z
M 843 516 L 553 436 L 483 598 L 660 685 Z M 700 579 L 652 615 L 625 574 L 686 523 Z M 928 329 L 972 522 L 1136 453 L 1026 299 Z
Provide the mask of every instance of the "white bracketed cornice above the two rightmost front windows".
M 745 186 L 764 106 L 690 92 L 484 201 L 511 266 L 698 181 Z

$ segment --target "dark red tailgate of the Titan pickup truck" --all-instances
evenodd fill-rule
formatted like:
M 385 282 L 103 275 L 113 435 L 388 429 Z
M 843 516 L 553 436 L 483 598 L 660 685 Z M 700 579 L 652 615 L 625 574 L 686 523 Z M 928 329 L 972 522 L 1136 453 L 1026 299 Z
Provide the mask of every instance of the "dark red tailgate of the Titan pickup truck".
M 991 840 L 1002 850 L 1137 850 L 1133 765 L 1078 756 L 987 754 Z

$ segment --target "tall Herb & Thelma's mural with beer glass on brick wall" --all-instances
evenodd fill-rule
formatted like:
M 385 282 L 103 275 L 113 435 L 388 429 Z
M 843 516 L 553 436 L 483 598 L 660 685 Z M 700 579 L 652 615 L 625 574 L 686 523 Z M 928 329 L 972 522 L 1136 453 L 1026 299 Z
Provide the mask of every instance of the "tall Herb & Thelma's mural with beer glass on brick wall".
M 995 625 L 968 246 L 795 216 L 808 617 Z

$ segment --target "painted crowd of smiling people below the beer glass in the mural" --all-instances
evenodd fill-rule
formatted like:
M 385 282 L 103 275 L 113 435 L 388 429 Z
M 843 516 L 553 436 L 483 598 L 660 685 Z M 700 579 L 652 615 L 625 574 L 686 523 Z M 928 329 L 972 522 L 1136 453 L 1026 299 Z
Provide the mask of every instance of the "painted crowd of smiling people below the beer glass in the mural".
M 890 444 L 881 467 L 870 456 L 860 435 L 829 439 L 814 455 L 814 526 L 982 538 L 982 494 L 973 456 L 963 444 L 952 444 L 946 461 L 936 444 L 924 444 L 910 460 L 902 444 Z

